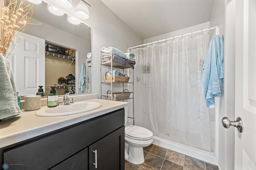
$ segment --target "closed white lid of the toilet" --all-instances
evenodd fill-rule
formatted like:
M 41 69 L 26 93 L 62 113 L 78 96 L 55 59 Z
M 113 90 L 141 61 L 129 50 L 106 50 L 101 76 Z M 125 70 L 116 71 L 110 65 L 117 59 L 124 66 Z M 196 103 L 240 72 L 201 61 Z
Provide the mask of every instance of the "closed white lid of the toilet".
M 144 127 L 138 127 L 135 125 L 128 125 L 127 127 L 125 127 L 125 136 L 133 138 L 133 139 L 151 139 L 153 136 L 153 133 L 144 128 Z

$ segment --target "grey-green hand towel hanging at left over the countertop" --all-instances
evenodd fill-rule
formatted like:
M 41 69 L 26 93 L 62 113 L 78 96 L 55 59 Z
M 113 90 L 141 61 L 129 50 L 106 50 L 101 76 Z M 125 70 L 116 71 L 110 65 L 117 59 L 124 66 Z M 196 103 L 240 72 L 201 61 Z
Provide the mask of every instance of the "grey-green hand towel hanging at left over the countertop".
M 0 119 L 5 120 L 21 113 L 16 85 L 10 62 L 0 54 Z

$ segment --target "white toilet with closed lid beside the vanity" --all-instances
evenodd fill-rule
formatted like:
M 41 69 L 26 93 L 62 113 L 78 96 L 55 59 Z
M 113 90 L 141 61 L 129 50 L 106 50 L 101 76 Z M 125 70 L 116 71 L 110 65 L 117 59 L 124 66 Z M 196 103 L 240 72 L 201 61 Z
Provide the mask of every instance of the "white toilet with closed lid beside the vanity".
M 125 123 L 127 119 L 128 114 L 125 114 Z M 152 144 L 153 133 L 135 125 L 126 125 L 124 133 L 125 159 L 133 164 L 142 164 L 144 162 L 143 147 Z

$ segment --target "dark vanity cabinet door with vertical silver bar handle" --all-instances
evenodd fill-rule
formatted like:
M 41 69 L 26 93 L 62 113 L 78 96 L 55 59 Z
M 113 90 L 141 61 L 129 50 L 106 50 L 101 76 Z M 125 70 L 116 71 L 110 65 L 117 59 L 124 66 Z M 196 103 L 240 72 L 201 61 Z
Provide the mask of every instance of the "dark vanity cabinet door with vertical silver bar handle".
M 124 126 L 89 146 L 90 170 L 124 170 Z

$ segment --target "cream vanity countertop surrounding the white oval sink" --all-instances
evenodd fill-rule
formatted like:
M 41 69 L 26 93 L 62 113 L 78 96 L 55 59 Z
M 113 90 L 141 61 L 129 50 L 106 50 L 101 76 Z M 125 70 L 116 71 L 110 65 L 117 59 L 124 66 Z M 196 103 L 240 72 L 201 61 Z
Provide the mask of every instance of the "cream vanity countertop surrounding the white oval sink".
M 60 117 L 38 117 L 35 115 L 36 111 L 22 110 L 22 114 L 6 121 L 0 121 L 0 148 L 128 106 L 126 102 L 103 99 L 86 101 L 98 102 L 102 106 L 93 111 Z

